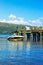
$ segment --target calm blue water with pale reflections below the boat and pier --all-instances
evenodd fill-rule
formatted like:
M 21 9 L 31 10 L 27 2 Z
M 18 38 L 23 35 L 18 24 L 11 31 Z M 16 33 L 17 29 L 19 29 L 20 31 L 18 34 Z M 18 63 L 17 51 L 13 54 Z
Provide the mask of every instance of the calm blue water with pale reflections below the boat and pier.
M 43 43 L 0 38 L 0 65 L 43 65 Z

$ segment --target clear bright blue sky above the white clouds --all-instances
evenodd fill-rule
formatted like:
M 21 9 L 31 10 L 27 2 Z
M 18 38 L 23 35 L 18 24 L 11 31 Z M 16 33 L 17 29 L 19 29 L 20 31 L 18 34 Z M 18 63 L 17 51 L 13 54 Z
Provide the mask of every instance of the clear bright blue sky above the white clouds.
M 8 20 L 11 14 L 16 20 L 21 17 L 24 22 L 33 22 L 32 25 L 38 22 L 43 26 L 43 0 L 0 0 L 0 19 Z

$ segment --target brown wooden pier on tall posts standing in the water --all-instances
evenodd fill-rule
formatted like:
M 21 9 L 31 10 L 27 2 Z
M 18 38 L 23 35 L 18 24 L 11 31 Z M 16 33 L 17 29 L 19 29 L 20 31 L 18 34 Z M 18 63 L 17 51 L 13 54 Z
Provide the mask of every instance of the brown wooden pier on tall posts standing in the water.
M 34 29 L 34 30 L 26 30 L 26 29 L 21 29 L 18 30 L 18 34 L 24 35 L 25 40 L 30 40 L 30 41 L 43 41 L 43 30 L 39 29 Z

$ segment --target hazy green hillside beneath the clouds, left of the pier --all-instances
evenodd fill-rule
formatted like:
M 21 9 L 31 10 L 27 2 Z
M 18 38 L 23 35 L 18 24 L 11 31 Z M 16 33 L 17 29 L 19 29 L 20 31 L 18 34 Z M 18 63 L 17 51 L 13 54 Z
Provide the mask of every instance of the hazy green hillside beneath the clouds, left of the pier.
M 6 33 L 13 33 L 16 30 L 20 30 L 22 28 L 25 28 L 25 25 L 17 25 L 17 24 L 9 24 L 9 23 L 1 23 L 0 22 L 0 33 L 6 34 Z

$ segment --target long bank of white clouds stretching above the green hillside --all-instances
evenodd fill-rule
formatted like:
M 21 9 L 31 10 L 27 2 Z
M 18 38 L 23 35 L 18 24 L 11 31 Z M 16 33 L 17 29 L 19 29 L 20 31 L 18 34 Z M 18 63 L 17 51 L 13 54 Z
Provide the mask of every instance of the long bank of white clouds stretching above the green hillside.
M 5 22 L 5 23 L 13 23 L 13 24 L 22 24 L 22 25 L 31 25 L 31 26 L 42 26 L 43 22 L 41 22 L 41 20 L 43 21 L 43 17 L 40 17 L 39 19 L 36 20 L 28 20 L 28 21 L 24 21 L 24 18 L 18 17 L 16 19 L 16 16 L 14 16 L 13 14 L 9 15 L 8 20 L 0 20 L 0 22 Z

